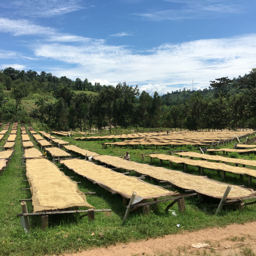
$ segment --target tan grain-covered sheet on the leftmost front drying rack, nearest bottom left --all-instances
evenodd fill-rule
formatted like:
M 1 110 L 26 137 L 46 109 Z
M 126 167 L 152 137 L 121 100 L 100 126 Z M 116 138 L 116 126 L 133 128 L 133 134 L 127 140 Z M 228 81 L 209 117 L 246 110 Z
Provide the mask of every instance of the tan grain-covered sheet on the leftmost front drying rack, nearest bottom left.
M 77 183 L 45 158 L 28 159 L 27 178 L 32 194 L 33 212 L 88 207 L 86 196 L 79 191 Z

